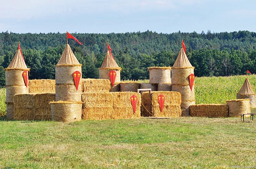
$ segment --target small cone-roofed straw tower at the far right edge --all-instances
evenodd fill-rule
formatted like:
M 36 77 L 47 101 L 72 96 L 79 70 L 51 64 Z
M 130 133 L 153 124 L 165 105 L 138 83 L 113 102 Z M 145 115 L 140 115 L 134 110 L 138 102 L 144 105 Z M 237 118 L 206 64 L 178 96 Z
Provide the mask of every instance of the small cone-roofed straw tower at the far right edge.
M 251 107 L 256 107 L 255 93 L 251 87 L 248 78 L 245 79 L 242 88 L 237 93 L 237 99 L 244 98 L 249 98 Z

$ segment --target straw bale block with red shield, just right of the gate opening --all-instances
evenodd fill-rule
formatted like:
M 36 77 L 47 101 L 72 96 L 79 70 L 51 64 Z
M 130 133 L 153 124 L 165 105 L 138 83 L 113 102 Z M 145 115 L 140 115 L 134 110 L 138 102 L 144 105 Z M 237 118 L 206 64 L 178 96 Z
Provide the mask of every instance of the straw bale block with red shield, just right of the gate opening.
M 165 96 L 163 111 L 158 103 L 158 95 Z M 151 92 L 151 112 L 154 117 L 181 117 L 181 94 L 179 92 Z

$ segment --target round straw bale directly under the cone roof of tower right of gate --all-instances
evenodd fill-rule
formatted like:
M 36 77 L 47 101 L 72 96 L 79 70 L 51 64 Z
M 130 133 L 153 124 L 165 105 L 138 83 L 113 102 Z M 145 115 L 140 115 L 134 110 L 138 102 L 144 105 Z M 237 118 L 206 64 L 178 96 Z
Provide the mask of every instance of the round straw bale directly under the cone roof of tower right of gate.
M 172 84 L 189 84 L 189 75 L 194 68 L 172 68 Z

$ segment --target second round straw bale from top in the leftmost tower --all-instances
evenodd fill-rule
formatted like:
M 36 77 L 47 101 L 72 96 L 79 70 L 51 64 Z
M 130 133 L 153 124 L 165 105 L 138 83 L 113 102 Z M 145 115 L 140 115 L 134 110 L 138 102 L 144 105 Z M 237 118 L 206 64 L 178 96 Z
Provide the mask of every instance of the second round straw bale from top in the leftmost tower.
M 26 86 L 6 86 L 6 102 L 14 102 L 15 94 L 26 94 L 28 91 Z

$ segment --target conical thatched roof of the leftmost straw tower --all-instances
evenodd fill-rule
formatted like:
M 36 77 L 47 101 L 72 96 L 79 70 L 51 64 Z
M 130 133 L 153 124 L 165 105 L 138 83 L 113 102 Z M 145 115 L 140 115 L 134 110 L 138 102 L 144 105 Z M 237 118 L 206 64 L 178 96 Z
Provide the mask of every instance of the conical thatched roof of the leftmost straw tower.
M 9 68 L 28 69 L 19 49 L 16 51 L 11 63 L 7 67 L 7 69 Z

